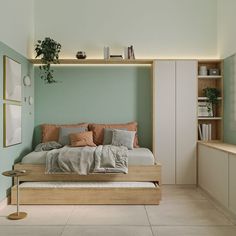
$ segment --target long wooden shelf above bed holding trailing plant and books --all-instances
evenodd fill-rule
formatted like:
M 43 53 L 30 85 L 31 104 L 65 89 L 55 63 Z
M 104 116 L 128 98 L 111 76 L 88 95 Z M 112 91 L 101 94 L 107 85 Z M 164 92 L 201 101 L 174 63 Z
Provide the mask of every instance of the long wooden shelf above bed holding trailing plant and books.
M 40 59 L 29 59 L 32 64 L 42 64 Z M 135 59 L 135 60 L 104 60 L 104 59 L 59 59 L 60 64 L 147 64 L 152 65 L 153 59 Z

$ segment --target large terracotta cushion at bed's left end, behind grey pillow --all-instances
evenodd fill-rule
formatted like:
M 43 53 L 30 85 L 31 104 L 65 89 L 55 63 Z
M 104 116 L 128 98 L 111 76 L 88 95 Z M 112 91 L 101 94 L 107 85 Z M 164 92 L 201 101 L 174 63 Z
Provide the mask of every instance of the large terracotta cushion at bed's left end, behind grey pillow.
M 70 125 L 55 125 L 55 124 L 43 124 L 42 129 L 42 143 L 55 141 L 58 142 L 60 127 L 86 127 L 88 123 L 70 124 Z

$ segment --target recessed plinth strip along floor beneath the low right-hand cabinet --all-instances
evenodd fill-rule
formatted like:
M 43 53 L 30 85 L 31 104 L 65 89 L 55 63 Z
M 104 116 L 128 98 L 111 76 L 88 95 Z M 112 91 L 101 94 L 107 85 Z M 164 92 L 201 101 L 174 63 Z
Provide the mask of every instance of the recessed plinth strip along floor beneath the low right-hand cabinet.
M 214 197 L 212 197 L 206 190 L 198 186 L 200 192 L 216 207 L 218 211 L 225 215 L 225 217 L 229 218 L 234 224 L 236 224 L 236 215 L 231 212 L 227 207 L 222 205 L 219 201 L 217 201 Z

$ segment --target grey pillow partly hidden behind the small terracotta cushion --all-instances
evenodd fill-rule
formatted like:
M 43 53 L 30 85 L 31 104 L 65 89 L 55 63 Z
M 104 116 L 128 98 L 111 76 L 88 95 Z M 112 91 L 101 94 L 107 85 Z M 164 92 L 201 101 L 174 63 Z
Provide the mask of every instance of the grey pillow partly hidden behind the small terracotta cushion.
M 61 145 L 69 145 L 70 144 L 69 134 L 82 133 L 85 131 L 88 131 L 86 127 L 61 127 L 58 142 Z

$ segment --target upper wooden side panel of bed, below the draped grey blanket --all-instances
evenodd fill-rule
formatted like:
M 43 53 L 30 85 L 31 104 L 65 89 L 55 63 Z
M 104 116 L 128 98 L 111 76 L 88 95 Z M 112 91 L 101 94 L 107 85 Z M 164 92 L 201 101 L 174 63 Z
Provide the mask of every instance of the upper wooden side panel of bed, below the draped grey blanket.
M 14 170 L 29 170 L 20 181 L 148 181 L 159 182 L 161 179 L 160 163 L 150 166 L 129 166 L 128 174 L 45 174 L 45 165 L 15 164 Z

